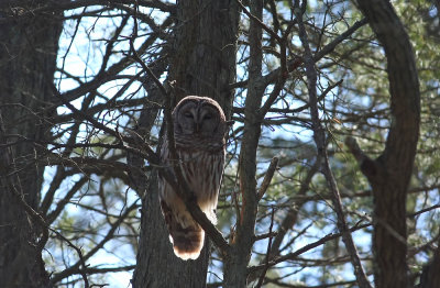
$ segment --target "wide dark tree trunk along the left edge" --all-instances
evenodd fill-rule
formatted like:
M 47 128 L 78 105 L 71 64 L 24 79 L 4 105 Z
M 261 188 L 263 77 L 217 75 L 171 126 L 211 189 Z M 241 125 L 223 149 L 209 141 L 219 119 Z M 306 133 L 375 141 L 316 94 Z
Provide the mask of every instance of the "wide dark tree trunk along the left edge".
M 1 1 L 0 13 L 0 286 L 47 287 L 42 261 L 45 244 L 37 210 L 43 169 L 40 149 L 30 140 L 44 140 L 51 123 L 44 110 L 51 86 L 63 20 L 51 15 L 20 16 L 42 1 Z M 16 170 L 15 170 L 16 169 Z M 24 201 L 23 201 L 24 200 Z M 28 212 L 25 212 L 28 206 Z

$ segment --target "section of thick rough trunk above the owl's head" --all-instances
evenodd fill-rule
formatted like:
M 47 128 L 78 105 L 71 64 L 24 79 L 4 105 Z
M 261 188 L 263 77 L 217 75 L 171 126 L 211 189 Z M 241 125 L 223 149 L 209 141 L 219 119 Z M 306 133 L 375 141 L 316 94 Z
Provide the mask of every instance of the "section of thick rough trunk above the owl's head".
M 215 99 L 230 118 L 235 81 L 239 7 L 235 1 L 177 1 L 177 29 L 169 79 L 176 102 L 188 95 Z

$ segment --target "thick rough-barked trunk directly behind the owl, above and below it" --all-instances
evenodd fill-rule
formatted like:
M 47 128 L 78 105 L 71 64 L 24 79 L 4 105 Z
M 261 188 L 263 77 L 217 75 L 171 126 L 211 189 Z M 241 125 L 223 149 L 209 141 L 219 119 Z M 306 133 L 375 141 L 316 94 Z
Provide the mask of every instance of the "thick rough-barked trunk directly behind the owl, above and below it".
M 235 1 L 185 0 L 177 2 L 174 55 L 168 79 L 175 101 L 188 95 L 217 100 L 231 115 L 235 80 L 239 9 Z M 152 174 L 142 207 L 138 265 L 133 287 L 205 287 L 209 241 L 196 261 L 174 255 L 157 199 L 156 173 Z

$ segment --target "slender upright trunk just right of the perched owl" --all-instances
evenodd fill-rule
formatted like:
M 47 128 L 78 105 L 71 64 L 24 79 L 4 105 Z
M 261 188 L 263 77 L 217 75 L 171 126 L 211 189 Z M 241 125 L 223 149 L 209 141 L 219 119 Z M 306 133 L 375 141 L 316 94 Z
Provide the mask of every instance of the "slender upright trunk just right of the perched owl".
M 250 2 L 250 12 L 256 19 L 263 16 L 263 1 Z M 224 287 L 246 287 L 248 264 L 254 244 L 254 229 L 257 212 L 256 192 L 256 149 L 261 135 L 261 121 L 257 112 L 262 106 L 265 87 L 261 85 L 262 78 L 262 35 L 261 25 L 251 20 L 249 31 L 250 58 L 248 97 L 244 103 L 244 131 L 240 151 L 240 192 L 242 195 L 242 209 L 237 223 L 237 232 L 232 235 L 232 253 L 224 263 Z

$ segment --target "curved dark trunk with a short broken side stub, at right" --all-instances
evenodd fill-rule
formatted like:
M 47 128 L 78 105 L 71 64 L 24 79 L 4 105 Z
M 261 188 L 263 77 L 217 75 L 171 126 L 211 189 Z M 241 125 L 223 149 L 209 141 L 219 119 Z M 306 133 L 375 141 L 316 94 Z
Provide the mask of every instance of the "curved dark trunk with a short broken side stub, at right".
M 420 123 L 415 55 L 389 1 L 360 0 L 359 8 L 385 49 L 391 92 L 391 129 L 385 149 L 371 159 L 353 139 L 346 144 L 367 177 L 374 199 L 374 281 L 377 288 L 408 287 L 406 196 Z

